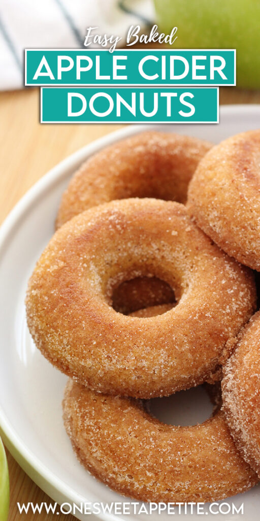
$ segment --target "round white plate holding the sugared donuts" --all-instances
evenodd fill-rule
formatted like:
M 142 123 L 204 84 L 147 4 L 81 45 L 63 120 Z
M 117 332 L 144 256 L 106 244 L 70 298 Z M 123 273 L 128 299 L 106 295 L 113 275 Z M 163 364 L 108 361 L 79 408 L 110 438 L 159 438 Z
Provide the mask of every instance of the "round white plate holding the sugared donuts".
M 123 500 L 119 494 L 96 481 L 77 462 L 62 425 L 61 400 L 66 377 L 35 349 L 25 323 L 27 281 L 36 259 L 53 234 L 60 196 L 72 172 L 84 159 L 104 146 L 144 129 L 174 131 L 218 142 L 229 135 L 259 127 L 260 106 L 257 105 L 221 107 L 219 125 L 129 126 L 82 148 L 48 172 L 4 222 L 0 231 L 0 430 L 8 449 L 25 472 L 57 503 Z M 166 400 L 166 416 L 171 409 L 170 416 L 179 421 L 179 408 L 184 422 L 187 418 L 193 421 L 189 409 L 193 410 L 199 402 L 201 410 L 201 398 L 198 398 L 198 392 L 192 394 L 192 405 L 190 393 L 192 391 L 176 394 L 171 407 L 168 407 L 169 400 Z M 163 401 L 160 402 L 160 409 Z M 209 415 L 209 405 L 205 404 L 205 407 L 205 414 Z M 199 421 L 199 413 L 196 414 L 194 421 Z M 243 518 L 251 521 L 258 519 L 259 489 L 254 488 L 231 498 L 229 502 L 236 505 L 244 502 Z M 188 520 L 196 516 L 180 517 Z M 119 519 L 113 514 L 101 514 L 99 517 L 107 521 Z M 128 521 L 133 519 L 133 515 L 120 517 Z M 138 517 L 147 519 L 146 515 Z M 157 514 L 152 517 L 153 521 L 159 519 Z M 209 514 L 207 519 L 216 517 L 218 515 Z M 225 519 L 240 517 L 228 514 Z M 79 515 L 79 519 L 83 518 L 86 519 L 86 516 Z M 161 514 L 160 519 L 164 521 L 166 514 Z

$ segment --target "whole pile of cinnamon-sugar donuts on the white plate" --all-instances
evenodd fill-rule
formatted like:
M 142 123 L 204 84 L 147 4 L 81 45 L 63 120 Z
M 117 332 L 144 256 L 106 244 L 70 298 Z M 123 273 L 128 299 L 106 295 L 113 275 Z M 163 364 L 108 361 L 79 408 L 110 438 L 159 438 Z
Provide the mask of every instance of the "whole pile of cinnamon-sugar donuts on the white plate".
M 260 478 L 254 270 L 260 130 L 215 146 L 140 133 L 73 176 L 29 281 L 27 320 L 70 377 L 63 417 L 75 454 L 111 489 L 206 502 Z M 204 423 L 149 412 L 149 399 L 203 383 L 215 404 Z

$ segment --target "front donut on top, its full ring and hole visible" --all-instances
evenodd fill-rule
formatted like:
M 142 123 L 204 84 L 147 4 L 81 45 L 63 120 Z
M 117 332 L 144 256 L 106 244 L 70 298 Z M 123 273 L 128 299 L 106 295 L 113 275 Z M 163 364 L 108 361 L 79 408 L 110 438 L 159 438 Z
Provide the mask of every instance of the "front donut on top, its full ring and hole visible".
M 156 317 L 111 306 L 124 280 L 167 282 L 177 305 Z M 113 201 L 56 231 L 27 292 L 33 340 L 90 389 L 150 398 L 202 383 L 223 364 L 255 308 L 251 270 L 228 258 L 184 205 Z

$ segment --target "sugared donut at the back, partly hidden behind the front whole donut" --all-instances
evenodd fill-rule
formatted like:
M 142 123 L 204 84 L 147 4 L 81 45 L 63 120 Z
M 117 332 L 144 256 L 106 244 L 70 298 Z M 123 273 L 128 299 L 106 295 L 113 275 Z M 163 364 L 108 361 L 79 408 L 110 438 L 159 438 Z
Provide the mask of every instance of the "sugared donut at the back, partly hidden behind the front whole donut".
M 73 176 L 56 227 L 115 199 L 154 197 L 185 203 L 193 172 L 211 146 L 186 135 L 144 132 L 104 148 Z

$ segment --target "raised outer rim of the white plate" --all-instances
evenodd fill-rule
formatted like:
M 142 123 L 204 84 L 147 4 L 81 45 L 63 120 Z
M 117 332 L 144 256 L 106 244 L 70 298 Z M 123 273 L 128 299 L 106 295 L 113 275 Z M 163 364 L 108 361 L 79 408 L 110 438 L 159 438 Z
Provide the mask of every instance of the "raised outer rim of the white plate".
M 239 114 L 243 116 L 245 111 L 247 116 L 250 116 L 251 114 L 255 116 L 256 113 L 260 115 L 260 104 L 222 105 L 220 106 L 220 118 L 223 114 L 225 114 L 225 117 L 229 115 L 232 116 L 234 114 L 236 114 L 236 116 Z M 93 155 L 105 146 L 115 143 L 116 141 L 120 141 L 121 139 L 129 137 L 130 135 L 138 134 L 145 130 L 152 130 L 159 127 L 162 128 L 163 125 L 159 123 L 147 123 L 145 125 L 131 124 L 121 129 L 112 131 L 105 136 L 81 147 L 79 150 L 75 151 L 73 154 L 59 162 L 56 166 L 48 170 L 48 172 L 45 173 L 45 175 L 43 175 L 35 184 L 33 184 L 33 186 L 22 196 L 22 198 L 18 201 L 18 203 L 14 206 L 14 208 L 3 221 L 3 224 L 0 227 L 0 255 L 3 256 L 5 254 L 3 251 L 5 243 L 8 239 L 11 238 L 12 231 L 15 229 L 17 222 L 19 222 L 23 214 L 30 212 L 31 206 L 37 202 L 38 197 L 44 196 L 46 191 L 48 191 L 63 177 L 66 177 L 70 169 L 73 167 L 76 168 L 76 165 L 79 165 L 81 162 L 86 160 L 88 156 Z M 33 479 L 36 485 L 44 490 L 44 492 L 46 492 L 51 499 L 59 504 L 61 498 L 69 500 L 71 504 L 79 504 L 82 501 L 86 501 L 85 498 L 82 498 L 80 494 L 77 494 L 59 477 L 57 477 L 52 470 L 49 470 L 37 456 L 34 456 L 33 452 L 29 450 L 29 448 L 20 439 L 14 428 L 12 428 L 12 425 L 8 419 L 8 415 L 4 413 L 1 403 L 0 433 L 8 450 L 16 459 L 18 464 L 23 468 L 24 472 L 27 473 Z M 54 498 L 53 491 L 50 490 L 49 487 L 51 487 L 51 489 L 56 492 L 56 494 L 59 496 L 58 499 Z M 91 498 L 91 493 L 89 501 L 90 503 L 94 502 L 93 498 Z M 115 521 L 115 519 L 122 519 L 121 516 L 115 516 L 108 513 L 100 513 L 98 516 L 92 514 L 90 515 L 90 518 L 92 518 L 92 516 L 99 517 L 103 521 L 108 521 L 108 519 L 113 521 Z

